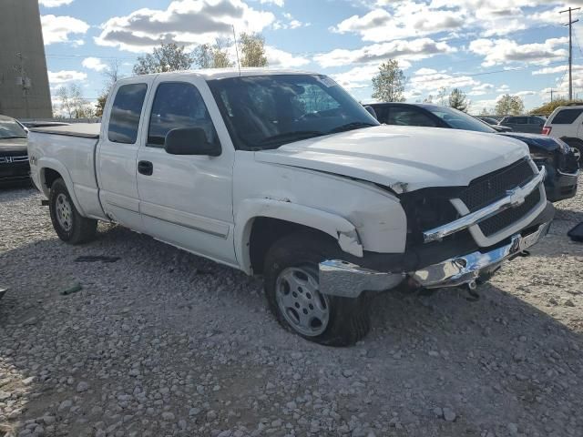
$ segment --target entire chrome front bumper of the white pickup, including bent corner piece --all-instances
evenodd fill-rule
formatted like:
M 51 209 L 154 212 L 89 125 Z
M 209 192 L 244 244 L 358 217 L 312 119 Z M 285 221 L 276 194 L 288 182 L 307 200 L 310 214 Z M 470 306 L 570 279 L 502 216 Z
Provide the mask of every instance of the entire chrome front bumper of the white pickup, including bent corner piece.
M 320 264 L 320 291 L 332 296 L 357 298 L 363 291 L 394 289 L 407 276 L 426 289 L 474 285 L 476 279 L 494 273 L 506 259 L 514 258 L 536 244 L 547 235 L 549 228 L 550 222 L 527 236 L 513 236 L 510 243 L 501 248 L 447 259 L 410 273 L 383 273 L 346 261 L 327 260 Z

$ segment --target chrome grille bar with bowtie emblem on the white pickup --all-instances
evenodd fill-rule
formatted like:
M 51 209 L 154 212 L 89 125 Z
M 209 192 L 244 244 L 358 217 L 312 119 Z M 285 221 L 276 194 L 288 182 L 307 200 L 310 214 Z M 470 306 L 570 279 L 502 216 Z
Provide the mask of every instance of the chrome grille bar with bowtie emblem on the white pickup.
M 423 233 L 424 243 L 444 239 L 449 235 L 455 234 L 455 232 L 468 229 L 471 226 L 477 225 L 480 221 L 496 216 L 496 214 L 505 209 L 515 208 L 522 205 L 525 202 L 525 198 L 527 198 L 527 196 L 545 180 L 546 176 L 547 169 L 541 168 L 537 176 L 532 178 L 524 186 L 506 191 L 506 198 L 501 198 L 491 205 L 488 205 L 486 208 L 478 209 L 477 211 L 467 214 L 451 223 L 425 231 Z

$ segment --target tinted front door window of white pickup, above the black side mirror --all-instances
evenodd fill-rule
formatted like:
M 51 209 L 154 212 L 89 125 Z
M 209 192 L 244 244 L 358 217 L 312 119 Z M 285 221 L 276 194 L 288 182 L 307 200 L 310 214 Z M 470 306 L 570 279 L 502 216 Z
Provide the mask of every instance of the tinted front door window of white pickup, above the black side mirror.
M 161 83 L 156 90 L 149 118 L 148 147 L 164 147 L 166 134 L 181 127 L 200 127 L 210 143 L 218 141 L 217 132 L 199 90 L 190 84 Z

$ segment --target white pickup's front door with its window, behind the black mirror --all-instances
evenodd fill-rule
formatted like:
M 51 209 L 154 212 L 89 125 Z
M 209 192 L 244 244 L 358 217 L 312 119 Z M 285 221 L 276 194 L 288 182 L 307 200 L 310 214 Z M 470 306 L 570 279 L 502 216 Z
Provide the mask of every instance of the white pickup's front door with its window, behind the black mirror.
M 209 86 L 193 75 L 179 76 L 171 82 L 160 76 L 148 108 L 147 135 L 138 151 L 139 208 L 146 232 L 179 248 L 236 265 L 234 147 Z M 202 128 L 209 142 L 220 143 L 220 156 L 166 152 L 168 132 L 183 127 Z M 144 166 L 148 166 L 147 172 L 141 170 Z

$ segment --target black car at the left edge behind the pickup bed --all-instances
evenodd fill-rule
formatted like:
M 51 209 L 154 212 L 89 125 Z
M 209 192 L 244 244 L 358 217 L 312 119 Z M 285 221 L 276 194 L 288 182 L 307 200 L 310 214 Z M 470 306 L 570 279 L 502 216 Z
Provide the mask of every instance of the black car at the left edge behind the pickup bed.
M 0 185 L 30 182 L 26 130 L 14 118 L 0 116 Z

